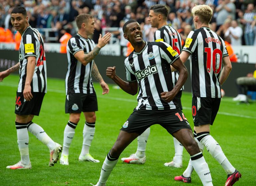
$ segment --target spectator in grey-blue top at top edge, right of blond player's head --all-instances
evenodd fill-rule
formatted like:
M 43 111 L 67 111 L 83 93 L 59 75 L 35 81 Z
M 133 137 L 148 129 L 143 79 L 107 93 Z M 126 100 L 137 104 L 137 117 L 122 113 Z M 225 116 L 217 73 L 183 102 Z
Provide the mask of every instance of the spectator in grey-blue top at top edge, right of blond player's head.
M 219 0 L 215 11 L 218 13 L 216 17 L 217 30 L 224 24 L 227 18 L 235 19 L 236 7 L 230 0 Z M 220 36 L 221 37 L 221 36 Z

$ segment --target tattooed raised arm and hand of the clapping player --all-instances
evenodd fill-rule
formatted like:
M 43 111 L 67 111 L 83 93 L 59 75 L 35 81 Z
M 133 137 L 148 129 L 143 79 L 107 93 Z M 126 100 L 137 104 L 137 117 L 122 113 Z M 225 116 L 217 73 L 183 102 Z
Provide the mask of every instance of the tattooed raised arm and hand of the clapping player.
M 98 55 L 100 49 L 109 42 L 110 37 L 110 33 L 107 33 L 103 37 L 101 37 L 100 34 L 97 46 L 95 46 L 89 53 L 84 53 L 83 50 L 80 50 L 74 54 L 74 57 L 84 66 L 87 65 L 96 55 Z

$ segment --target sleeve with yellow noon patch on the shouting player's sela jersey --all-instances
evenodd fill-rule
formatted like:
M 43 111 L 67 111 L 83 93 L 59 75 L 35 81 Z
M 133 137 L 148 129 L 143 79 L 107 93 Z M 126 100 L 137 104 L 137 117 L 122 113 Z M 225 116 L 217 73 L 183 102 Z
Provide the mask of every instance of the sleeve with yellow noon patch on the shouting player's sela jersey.
M 160 42 L 159 49 L 161 57 L 167 60 L 169 64 L 174 63 L 180 57 L 178 52 L 165 42 Z

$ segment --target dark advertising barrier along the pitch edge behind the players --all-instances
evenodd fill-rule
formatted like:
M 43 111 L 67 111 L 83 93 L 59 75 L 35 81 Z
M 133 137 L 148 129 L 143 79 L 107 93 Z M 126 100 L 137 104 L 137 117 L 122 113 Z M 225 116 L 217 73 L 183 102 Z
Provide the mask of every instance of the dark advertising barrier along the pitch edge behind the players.
M 15 50 L 2 50 L 0 49 L 0 71 L 6 70 L 16 64 L 19 59 L 18 51 Z M 116 73 L 119 77 L 126 80 L 125 67 L 124 67 L 123 56 L 105 56 L 98 55 L 95 58 L 95 62 L 98 66 L 99 72 L 103 79 L 107 83 L 114 83 L 111 79 L 106 76 L 106 68 L 109 66 L 116 66 Z M 47 75 L 53 78 L 65 78 L 67 72 L 67 57 L 66 54 L 56 52 L 46 52 L 47 61 Z M 185 63 L 189 71 L 188 80 L 185 83 L 185 91 L 191 92 L 191 77 L 190 77 L 190 63 Z M 233 69 L 222 86 L 226 96 L 236 96 L 237 90 L 235 86 L 235 80 L 238 77 L 246 76 L 247 73 L 255 70 L 255 64 L 247 63 L 232 63 Z M 18 71 L 17 71 L 18 73 Z M 94 80 L 95 82 L 95 80 Z

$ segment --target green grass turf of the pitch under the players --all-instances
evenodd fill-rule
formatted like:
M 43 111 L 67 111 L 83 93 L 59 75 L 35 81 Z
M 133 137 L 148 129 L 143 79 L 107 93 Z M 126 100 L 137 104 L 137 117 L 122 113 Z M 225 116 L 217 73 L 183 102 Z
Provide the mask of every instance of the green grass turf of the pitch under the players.
M 82 129 L 84 117 L 76 128 L 76 134 L 69 149 L 69 166 L 59 163 L 48 167 L 49 151 L 33 135 L 30 136 L 29 150 L 32 162 L 31 170 L 8 170 L 5 167 L 17 163 L 20 155 L 17 146 L 15 129 L 15 96 L 19 77 L 10 75 L 0 83 L 0 174 L 1 185 L 88 185 L 96 183 L 102 163 L 115 142 L 119 129 L 124 124 L 133 108 L 136 107 L 136 96 L 128 95 L 122 90 L 110 86 L 108 95 L 101 95 L 99 84 L 95 83 L 98 95 L 99 111 L 96 113 L 96 133 L 90 153 L 100 163 L 79 162 L 78 156 L 82 146 Z M 234 90 L 235 91 L 235 90 Z M 187 119 L 192 124 L 191 93 L 183 93 L 182 104 Z M 48 93 L 43 101 L 39 117 L 34 122 L 41 125 L 47 134 L 56 142 L 63 144 L 63 132 L 68 121 L 64 114 L 64 80 L 48 78 Z M 255 185 L 256 163 L 256 103 L 237 105 L 231 98 L 224 97 L 218 114 L 211 128 L 211 135 L 221 145 L 229 161 L 242 173 L 242 179 L 235 185 Z M 242 117 L 228 116 L 237 114 Z M 243 117 L 244 116 L 244 117 Z M 245 118 L 249 116 L 249 118 Z M 250 118 L 251 117 L 251 118 Z M 137 140 L 133 141 L 121 154 L 121 157 L 134 153 Z M 184 150 L 183 167 L 165 167 L 174 155 L 173 138 L 159 125 L 151 128 L 147 144 L 147 161 L 144 165 L 123 164 L 118 161 L 112 171 L 108 186 L 180 186 L 187 184 L 174 181 L 174 176 L 181 175 L 186 169 L 189 154 Z M 209 165 L 213 185 L 223 186 L 226 173 L 207 151 L 204 157 Z M 201 185 L 195 172 L 190 186 Z

